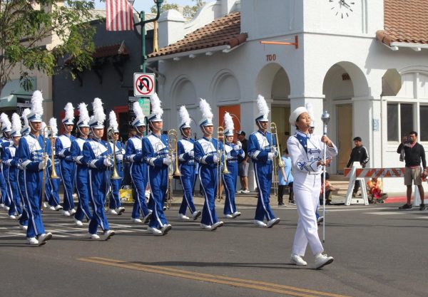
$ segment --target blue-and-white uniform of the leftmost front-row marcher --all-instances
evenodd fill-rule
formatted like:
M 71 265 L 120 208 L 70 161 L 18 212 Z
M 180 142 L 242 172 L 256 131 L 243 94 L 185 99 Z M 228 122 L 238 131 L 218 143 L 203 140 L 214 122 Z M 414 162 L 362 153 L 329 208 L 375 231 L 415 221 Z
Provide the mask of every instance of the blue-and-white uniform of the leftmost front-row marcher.
M 51 155 L 51 142 L 39 135 L 30 134 L 21 137 L 18 146 L 19 164 L 23 168 L 24 182 L 24 204 L 28 209 L 29 224 L 26 236 L 32 238 L 45 233 L 44 224 L 41 221 L 41 188 L 43 180 L 43 170 L 39 170 L 42 162 L 43 151 L 46 145 L 46 154 Z M 47 161 L 47 167 L 50 160 Z M 49 177 L 46 177 L 49 178 Z

